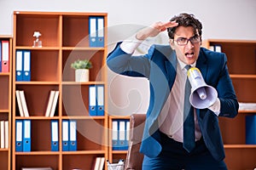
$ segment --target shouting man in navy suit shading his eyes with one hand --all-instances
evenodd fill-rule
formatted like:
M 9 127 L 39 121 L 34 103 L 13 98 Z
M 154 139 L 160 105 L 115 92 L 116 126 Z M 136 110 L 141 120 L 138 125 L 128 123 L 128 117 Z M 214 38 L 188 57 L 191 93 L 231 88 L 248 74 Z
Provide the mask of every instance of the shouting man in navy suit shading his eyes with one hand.
M 140 148 L 144 170 L 227 169 L 218 116 L 235 117 L 239 105 L 226 55 L 201 48 L 201 30 L 193 14 L 178 14 L 166 23 L 143 28 L 133 40 L 119 42 L 108 54 L 112 71 L 148 78 L 150 100 Z M 148 54 L 133 55 L 143 40 L 161 31 L 167 31 L 169 45 L 155 44 Z M 187 67 L 198 68 L 218 93 L 205 109 L 186 103 Z

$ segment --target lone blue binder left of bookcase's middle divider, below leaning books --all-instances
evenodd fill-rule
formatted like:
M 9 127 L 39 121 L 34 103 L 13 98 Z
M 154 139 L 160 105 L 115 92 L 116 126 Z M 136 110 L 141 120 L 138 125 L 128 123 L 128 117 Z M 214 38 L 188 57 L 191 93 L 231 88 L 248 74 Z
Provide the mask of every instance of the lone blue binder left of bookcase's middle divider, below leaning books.
M 59 151 L 59 122 L 51 120 L 51 151 Z

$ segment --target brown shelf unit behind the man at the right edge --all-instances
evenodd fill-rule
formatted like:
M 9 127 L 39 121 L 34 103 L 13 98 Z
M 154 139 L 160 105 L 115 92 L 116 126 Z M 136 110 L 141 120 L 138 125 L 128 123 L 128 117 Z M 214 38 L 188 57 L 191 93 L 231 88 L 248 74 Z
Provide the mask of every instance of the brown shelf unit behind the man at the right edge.
M 203 46 L 220 46 L 228 58 L 228 68 L 238 102 L 256 103 L 256 41 L 208 39 Z M 219 117 L 225 162 L 229 169 L 253 169 L 256 167 L 256 144 L 246 144 L 247 115 L 255 111 L 239 111 L 234 119 Z

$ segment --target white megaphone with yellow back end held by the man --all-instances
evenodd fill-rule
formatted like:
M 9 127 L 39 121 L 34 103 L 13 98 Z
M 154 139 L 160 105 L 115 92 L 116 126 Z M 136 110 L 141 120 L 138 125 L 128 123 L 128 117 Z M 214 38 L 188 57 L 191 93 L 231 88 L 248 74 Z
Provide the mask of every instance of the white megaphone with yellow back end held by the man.
M 191 84 L 190 104 L 197 109 L 206 109 L 217 99 L 217 91 L 212 86 L 208 86 L 201 76 L 198 68 L 191 67 L 188 71 L 189 82 Z

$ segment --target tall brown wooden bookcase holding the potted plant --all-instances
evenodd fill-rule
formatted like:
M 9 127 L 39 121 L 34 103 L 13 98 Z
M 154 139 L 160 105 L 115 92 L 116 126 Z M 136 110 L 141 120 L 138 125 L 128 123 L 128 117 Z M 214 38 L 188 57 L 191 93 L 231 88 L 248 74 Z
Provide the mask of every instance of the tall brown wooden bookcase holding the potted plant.
M 107 46 L 90 47 L 89 17 L 104 19 L 104 42 L 107 42 L 107 13 L 14 12 L 13 63 L 17 50 L 31 51 L 31 81 L 16 81 L 13 67 L 13 134 L 17 120 L 31 120 L 31 151 L 15 150 L 13 135 L 12 169 L 53 167 L 59 170 L 90 169 L 96 156 L 108 159 L 108 115 L 89 115 L 89 87 L 102 84 L 107 94 L 105 60 Z M 34 31 L 42 36 L 42 48 L 33 48 Z M 75 82 L 71 63 L 90 59 L 90 82 Z M 15 91 L 24 90 L 29 117 L 21 117 Z M 50 90 L 59 91 L 55 116 L 45 117 Z M 105 95 L 107 96 L 107 95 Z M 104 98 L 104 109 L 108 101 Z M 59 151 L 51 151 L 51 121 L 58 122 Z M 77 150 L 62 151 L 62 121 L 76 120 Z M 105 164 L 106 167 L 106 164 Z

